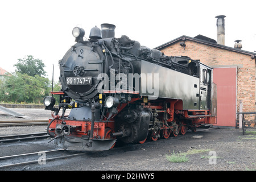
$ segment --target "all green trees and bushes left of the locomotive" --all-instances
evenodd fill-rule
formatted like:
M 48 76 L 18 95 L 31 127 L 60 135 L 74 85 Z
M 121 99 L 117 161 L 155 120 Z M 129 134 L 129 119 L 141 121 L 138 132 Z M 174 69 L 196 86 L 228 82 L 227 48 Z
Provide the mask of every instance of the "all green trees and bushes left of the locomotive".
M 43 77 L 46 75 L 43 61 L 29 55 L 18 59 L 14 66 L 17 69 L 13 75 L 0 79 L 0 102 L 41 104 L 52 89 L 49 79 Z M 60 84 L 57 82 L 53 91 L 59 90 Z

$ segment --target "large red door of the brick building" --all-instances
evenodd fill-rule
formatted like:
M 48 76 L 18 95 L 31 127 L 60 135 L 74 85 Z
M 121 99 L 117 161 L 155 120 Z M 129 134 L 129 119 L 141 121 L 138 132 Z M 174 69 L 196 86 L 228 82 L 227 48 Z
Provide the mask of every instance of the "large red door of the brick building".
M 217 85 L 216 126 L 236 126 L 237 68 L 214 68 Z

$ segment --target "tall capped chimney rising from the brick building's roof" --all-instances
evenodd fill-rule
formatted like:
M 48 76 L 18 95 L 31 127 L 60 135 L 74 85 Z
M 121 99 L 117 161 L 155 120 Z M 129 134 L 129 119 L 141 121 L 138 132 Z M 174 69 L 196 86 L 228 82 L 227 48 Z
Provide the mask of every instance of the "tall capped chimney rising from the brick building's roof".
M 217 18 L 217 44 L 225 46 L 225 15 L 215 16 Z

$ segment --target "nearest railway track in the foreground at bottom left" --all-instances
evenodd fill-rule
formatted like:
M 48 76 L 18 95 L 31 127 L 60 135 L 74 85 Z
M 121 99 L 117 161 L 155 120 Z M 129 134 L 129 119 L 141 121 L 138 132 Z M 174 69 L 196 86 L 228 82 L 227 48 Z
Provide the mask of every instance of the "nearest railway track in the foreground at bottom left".
M 64 151 L 64 152 L 61 152 Z M 50 158 L 42 159 L 40 156 L 44 154 L 45 156 L 51 156 Z M 57 150 L 50 150 L 50 151 L 39 151 L 39 152 L 32 152 L 27 154 L 18 154 L 18 155 L 10 155 L 10 156 L 2 156 L 0 157 L 0 169 L 9 168 L 9 167 L 16 167 L 16 166 L 23 166 L 27 164 L 42 164 L 42 160 L 44 162 L 48 162 L 50 160 L 57 160 L 57 159 L 67 159 L 72 158 L 79 155 L 84 155 L 85 153 L 75 153 L 75 154 L 65 154 L 64 149 L 57 149 Z

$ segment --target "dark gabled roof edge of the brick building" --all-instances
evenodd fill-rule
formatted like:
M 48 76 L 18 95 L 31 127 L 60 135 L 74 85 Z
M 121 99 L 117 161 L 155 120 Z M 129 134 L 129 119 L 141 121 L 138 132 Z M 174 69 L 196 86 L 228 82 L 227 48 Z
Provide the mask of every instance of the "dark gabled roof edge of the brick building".
M 194 41 L 194 42 L 197 42 L 197 43 L 207 44 L 208 46 L 213 46 L 213 47 L 217 47 L 217 48 L 227 49 L 229 51 L 243 53 L 243 54 L 246 54 L 246 55 L 250 55 L 252 59 L 256 58 L 256 53 L 255 52 L 249 52 L 249 51 L 244 51 L 244 50 L 238 49 L 238 48 L 223 46 L 221 44 L 217 44 L 216 40 L 210 39 L 210 38 L 208 38 L 206 36 L 203 36 L 203 35 L 200 35 L 200 34 L 195 36 L 195 38 L 183 35 L 183 36 L 180 36 L 179 38 L 171 40 L 170 42 L 167 42 L 167 43 L 164 43 L 164 44 L 162 44 L 162 45 L 160 45 L 158 47 L 155 47 L 154 49 L 162 49 L 162 48 L 168 47 L 171 44 L 174 44 L 174 43 L 176 43 L 178 41 L 184 42 L 185 40 L 191 40 L 191 41 Z

